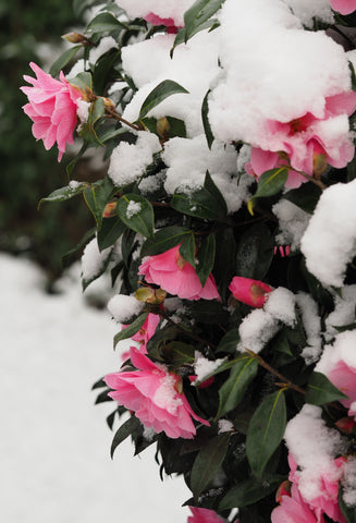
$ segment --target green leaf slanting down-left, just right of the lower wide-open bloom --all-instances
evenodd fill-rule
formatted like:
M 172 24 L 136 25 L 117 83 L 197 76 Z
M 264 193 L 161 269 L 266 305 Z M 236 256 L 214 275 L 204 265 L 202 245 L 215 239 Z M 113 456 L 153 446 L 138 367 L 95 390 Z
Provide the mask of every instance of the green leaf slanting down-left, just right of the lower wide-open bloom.
M 256 357 L 243 354 L 232 367 L 229 379 L 219 390 L 220 404 L 216 419 L 235 409 L 244 398 L 246 389 L 258 370 Z

